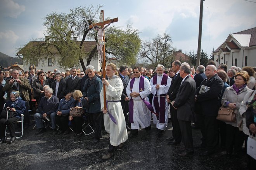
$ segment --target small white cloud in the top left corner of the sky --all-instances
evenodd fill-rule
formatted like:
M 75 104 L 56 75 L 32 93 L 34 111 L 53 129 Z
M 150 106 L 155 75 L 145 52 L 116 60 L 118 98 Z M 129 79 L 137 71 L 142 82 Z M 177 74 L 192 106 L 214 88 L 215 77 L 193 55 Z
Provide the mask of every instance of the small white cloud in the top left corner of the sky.
M 0 1 L 0 14 L 3 16 L 17 18 L 21 12 L 25 11 L 24 5 L 19 5 L 13 0 L 1 0 Z

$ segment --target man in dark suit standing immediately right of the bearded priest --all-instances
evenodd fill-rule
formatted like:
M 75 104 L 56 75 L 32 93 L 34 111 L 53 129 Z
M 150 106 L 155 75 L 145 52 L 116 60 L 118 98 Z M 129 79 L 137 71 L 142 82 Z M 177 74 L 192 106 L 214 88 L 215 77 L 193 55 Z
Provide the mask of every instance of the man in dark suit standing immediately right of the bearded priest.
M 171 86 L 168 90 L 168 93 L 166 94 L 167 102 L 170 103 L 176 98 L 176 94 L 178 93 L 178 90 L 180 88 L 180 83 L 183 80 L 183 78 L 180 77 L 180 61 L 176 60 L 172 63 L 173 71 L 175 72 L 175 75 L 173 76 L 171 80 Z M 178 145 L 181 142 L 181 132 L 180 132 L 180 126 L 177 119 L 177 110 L 173 107 L 173 105 L 170 105 L 170 111 L 171 111 L 171 124 L 173 126 L 173 136 L 166 138 L 167 140 L 170 140 L 168 143 L 169 145 Z

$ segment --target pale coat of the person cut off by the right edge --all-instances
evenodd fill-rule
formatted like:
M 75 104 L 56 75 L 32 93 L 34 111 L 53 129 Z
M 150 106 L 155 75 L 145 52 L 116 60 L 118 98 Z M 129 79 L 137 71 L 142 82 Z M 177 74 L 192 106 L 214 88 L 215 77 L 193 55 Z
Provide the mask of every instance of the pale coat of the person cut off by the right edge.
M 240 115 L 243 117 L 243 124 L 242 124 L 242 129 L 243 132 L 247 135 L 250 135 L 249 133 L 249 129 L 246 127 L 246 119 L 245 119 L 245 114 L 244 112 L 246 112 L 247 110 L 247 106 L 246 106 L 246 102 L 251 102 L 252 101 L 252 97 L 254 97 L 256 93 L 256 90 L 251 90 L 250 92 L 248 92 L 245 96 L 244 96 L 244 100 L 242 101 L 242 103 L 240 104 L 240 109 L 239 109 L 239 113 Z

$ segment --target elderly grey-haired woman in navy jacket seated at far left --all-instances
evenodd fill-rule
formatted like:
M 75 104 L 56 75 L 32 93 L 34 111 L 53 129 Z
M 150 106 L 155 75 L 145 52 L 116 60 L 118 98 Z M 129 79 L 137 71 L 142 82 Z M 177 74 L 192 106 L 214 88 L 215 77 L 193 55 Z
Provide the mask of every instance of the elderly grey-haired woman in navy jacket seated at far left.
M 15 135 L 15 124 L 21 121 L 21 114 L 26 112 L 25 102 L 19 96 L 18 91 L 12 91 L 10 93 L 10 100 L 5 104 L 5 109 L 9 110 L 8 120 L 7 117 L 0 117 L 0 144 L 5 141 L 5 126 L 10 131 L 10 141 L 9 143 L 14 143 L 16 139 Z M 4 111 L 4 110 L 3 110 Z

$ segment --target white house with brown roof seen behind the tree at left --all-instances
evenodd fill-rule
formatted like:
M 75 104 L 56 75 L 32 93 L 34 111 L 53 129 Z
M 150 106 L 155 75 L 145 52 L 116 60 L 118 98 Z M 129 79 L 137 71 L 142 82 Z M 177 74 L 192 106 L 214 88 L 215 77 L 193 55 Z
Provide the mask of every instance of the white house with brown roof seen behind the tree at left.
M 44 41 L 42 41 L 44 42 Z M 26 51 L 33 46 L 33 44 L 35 43 L 42 43 L 41 41 L 31 41 L 29 42 L 26 46 L 24 46 L 24 48 L 22 48 L 20 51 L 17 52 L 16 55 L 19 56 L 23 56 L 25 57 L 26 55 L 28 55 L 26 53 Z M 80 41 L 77 41 L 78 43 L 80 43 Z M 82 47 L 82 51 L 83 53 L 89 53 L 90 51 L 92 51 L 92 49 L 97 45 L 96 41 L 84 41 L 83 42 L 83 47 Z M 51 48 L 51 53 L 54 54 L 55 58 L 59 58 L 60 54 L 57 51 L 57 49 L 55 48 Z M 43 69 L 44 71 L 54 71 L 54 68 L 57 68 L 60 71 L 66 71 L 63 68 L 59 68 L 59 66 L 57 65 L 57 63 L 53 63 L 52 58 L 47 57 L 47 54 L 42 54 L 40 56 L 41 58 L 44 58 L 43 64 L 40 62 L 38 63 L 38 61 L 31 61 L 30 64 L 34 64 L 36 66 L 36 69 Z M 72 57 L 72 56 L 71 56 Z M 84 63 L 86 66 L 86 62 L 87 59 L 84 58 Z M 99 62 L 99 59 L 92 59 L 90 62 L 90 65 L 93 65 L 95 67 L 96 71 L 99 71 L 101 68 L 102 63 Z M 82 67 L 80 65 L 79 67 L 82 70 Z M 28 71 L 29 70 L 29 65 L 24 65 L 24 71 Z

